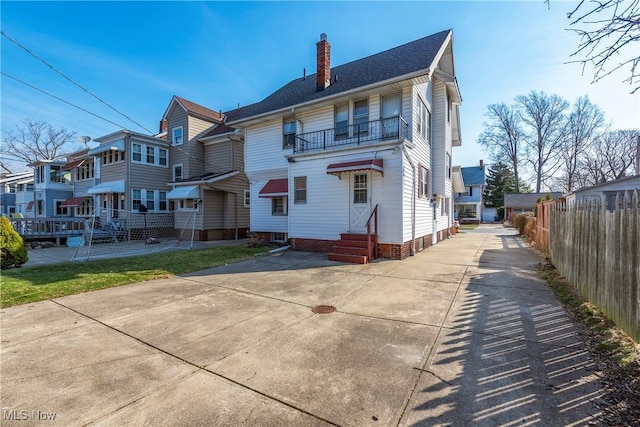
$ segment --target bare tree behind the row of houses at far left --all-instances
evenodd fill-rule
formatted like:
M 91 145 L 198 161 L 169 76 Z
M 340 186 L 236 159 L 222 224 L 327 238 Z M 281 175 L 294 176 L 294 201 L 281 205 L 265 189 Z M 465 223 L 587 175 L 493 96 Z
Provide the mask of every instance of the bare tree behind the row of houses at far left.
M 37 160 L 56 160 L 76 151 L 75 132 L 55 129 L 51 124 L 25 119 L 15 130 L 2 129 L 3 158 L 26 164 Z

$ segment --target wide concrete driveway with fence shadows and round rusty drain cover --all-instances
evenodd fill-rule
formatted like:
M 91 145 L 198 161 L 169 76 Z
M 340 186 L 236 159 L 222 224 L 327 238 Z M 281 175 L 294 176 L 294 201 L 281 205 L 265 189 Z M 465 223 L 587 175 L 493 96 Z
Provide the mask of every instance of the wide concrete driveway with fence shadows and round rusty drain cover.
M 3 309 L 2 425 L 585 425 L 601 386 L 537 262 L 482 226 Z

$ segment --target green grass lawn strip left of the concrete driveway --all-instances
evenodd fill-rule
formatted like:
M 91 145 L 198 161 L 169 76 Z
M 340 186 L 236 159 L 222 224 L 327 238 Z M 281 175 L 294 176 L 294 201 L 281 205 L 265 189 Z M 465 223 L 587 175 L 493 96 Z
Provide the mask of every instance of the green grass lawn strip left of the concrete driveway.
M 228 246 L 3 270 L 0 307 L 204 270 L 267 250 Z

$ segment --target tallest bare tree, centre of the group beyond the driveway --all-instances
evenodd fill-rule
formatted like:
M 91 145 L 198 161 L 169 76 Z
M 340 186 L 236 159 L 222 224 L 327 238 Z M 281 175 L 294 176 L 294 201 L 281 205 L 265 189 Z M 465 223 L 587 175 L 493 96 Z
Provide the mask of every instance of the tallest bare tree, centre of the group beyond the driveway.
M 524 138 L 526 159 L 533 167 L 536 193 L 539 193 L 544 181 L 557 172 L 562 162 L 564 112 L 569 103 L 558 95 L 531 91 L 529 95 L 517 96 L 516 104 L 521 109 L 522 122 L 528 128 Z

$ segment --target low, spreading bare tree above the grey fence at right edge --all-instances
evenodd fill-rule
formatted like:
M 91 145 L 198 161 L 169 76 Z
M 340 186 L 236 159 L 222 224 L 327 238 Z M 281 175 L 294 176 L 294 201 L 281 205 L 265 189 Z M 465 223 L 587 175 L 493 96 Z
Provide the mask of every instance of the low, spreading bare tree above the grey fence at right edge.
M 637 161 L 638 130 L 605 132 L 594 141 L 584 159 L 579 180 L 594 185 L 633 174 Z

